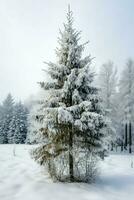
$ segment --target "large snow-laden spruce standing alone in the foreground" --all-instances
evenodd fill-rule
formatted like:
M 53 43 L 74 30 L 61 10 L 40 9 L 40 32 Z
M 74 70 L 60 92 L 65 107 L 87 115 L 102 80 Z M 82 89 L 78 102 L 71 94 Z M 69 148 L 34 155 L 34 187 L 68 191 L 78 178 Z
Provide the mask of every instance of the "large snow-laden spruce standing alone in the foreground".
M 90 69 L 91 57 L 82 58 L 80 32 L 73 28 L 72 12 L 67 13 L 60 31 L 58 61 L 48 63 L 51 82 L 41 82 L 48 90 L 36 120 L 42 122 L 38 134 L 44 143 L 33 157 L 48 167 L 60 181 L 89 181 L 95 158 L 103 151 L 103 112 Z

